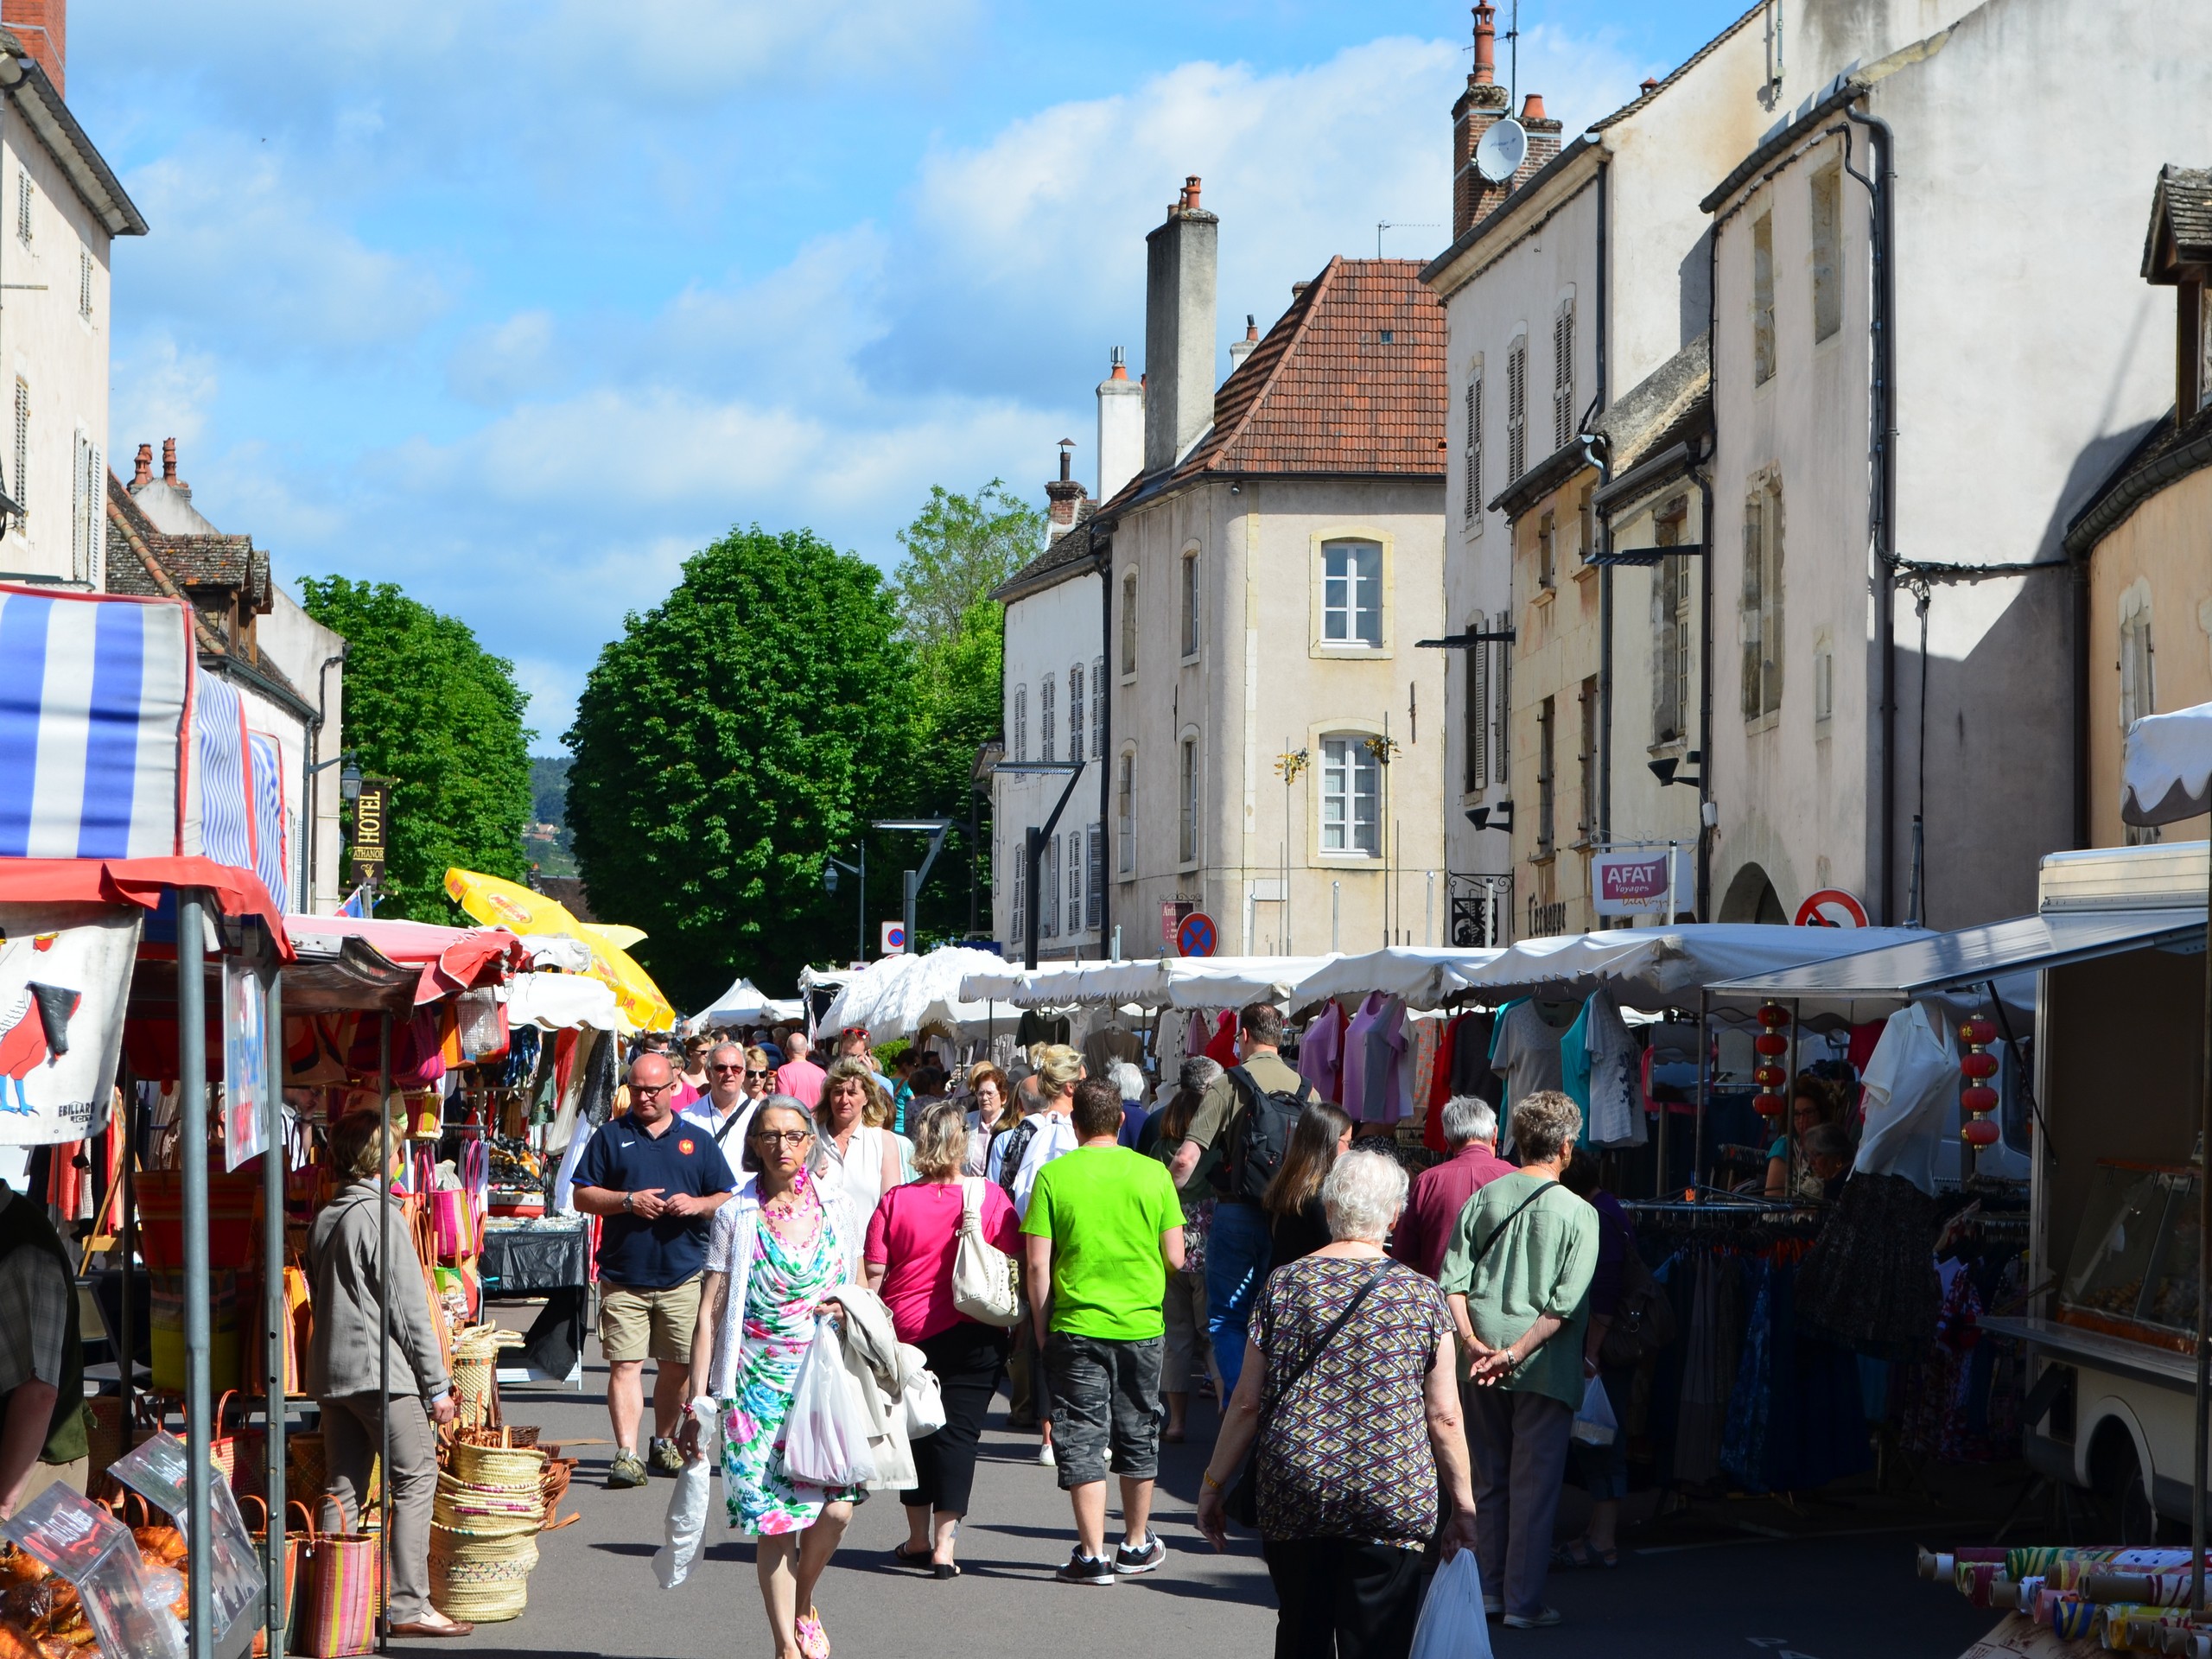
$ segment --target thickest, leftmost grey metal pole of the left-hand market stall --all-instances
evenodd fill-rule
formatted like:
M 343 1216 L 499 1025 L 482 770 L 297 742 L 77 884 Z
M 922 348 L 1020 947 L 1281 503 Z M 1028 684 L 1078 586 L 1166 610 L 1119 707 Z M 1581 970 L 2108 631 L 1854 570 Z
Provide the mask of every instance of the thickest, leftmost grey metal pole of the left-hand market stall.
M 177 889 L 177 1150 L 184 1172 L 184 1447 L 192 1659 L 210 1659 L 215 1652 L 208 1506 L 208 940 L 201 905 L 197 887 Z

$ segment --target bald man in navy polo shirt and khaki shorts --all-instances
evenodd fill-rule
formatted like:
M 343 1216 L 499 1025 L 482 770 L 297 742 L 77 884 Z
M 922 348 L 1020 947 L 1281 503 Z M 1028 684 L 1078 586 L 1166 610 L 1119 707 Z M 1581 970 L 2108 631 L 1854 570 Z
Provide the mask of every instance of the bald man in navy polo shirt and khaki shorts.
M 690 1376 L 699 1274 L 714 1210 L 737 1177 L 714 1137 L 670 1110 L 677 1075 L 668 1055 L 630 1062 L 630 1113 L 611 1117 L 575 1166 L 575 1208 L 606 1217 L 599 1232 L 599 1349 L 606 1354 L 606 1416 L 615 1425 L 608 1486 L 644 1486 L 637 1420 L 646 1358 L 653 1380 L 653 1467 L 677 1473 L 675 1447 Z

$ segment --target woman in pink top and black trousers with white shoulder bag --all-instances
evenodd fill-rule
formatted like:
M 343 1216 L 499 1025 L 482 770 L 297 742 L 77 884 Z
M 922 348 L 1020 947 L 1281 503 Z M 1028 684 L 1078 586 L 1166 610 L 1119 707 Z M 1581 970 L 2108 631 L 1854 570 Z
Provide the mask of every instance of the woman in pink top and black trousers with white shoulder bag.
M 929 1566 L 958 1577 L 953 1537 L 975 1484 L 975 1440 L 1006 1369 L 1006 1332 L 980 1325 L 953 1307 L 953 1254 L 964 1210 L 973 1203 L 987 1243 L 1020 1254 L 1022 1223 L 1004 1188 L 962 1179 L 967 1115 L 949 1099 L 931 1102 L 914 1126 L 918 1179 L 883 1194 L 867 1223 L 867 1287 L 891 1310 L 900 1343 L 929 1356 L 945 1394 L 945 1427 L 914 1442 L 914 1491 L 902 1491 L 907 1542 L 891 1551 L 900 1566 Z

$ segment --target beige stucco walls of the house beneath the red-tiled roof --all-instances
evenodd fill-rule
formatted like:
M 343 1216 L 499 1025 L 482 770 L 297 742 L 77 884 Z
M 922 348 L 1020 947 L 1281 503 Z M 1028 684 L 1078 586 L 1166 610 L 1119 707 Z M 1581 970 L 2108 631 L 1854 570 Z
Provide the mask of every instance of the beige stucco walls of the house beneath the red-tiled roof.
M 1380 553 L 1380 644 L 1323 637 L 1323 549 L 1343 542 Z M 1113 573 L 1117 613 L 1135 595 L 1110 670 L 1124 953 L 1157 951 L 1172 905 L 1212 916 L 1223 953 L 1440 938 L 1444 670 L 1416 639 L 1442 630 L 1442 482 L 1197 480 L 1119 518 Z M 1369 759 L 1369 741 L 1396 745 L 1374 768 L 1371 849 L 1325 845 L 1332 741 Z M 1281 759 L 1298 750 L 1307 763 L 1285 787 Z

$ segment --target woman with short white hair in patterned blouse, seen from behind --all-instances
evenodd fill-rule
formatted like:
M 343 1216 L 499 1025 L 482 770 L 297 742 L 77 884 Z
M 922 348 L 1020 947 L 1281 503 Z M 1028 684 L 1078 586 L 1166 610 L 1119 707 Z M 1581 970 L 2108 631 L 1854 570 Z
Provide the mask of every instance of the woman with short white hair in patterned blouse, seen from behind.
M 1199 1531 L 1228 1546 L 1225 1498 L 1252 1451 L 1276 1652 L 1405 1659 L 1438 1528 L 1475 1544 L 1451 1316 L 1433 1283 L 1383 1254 L 1407 1177 L 1352 1150 L 1321 1186 L 1329 1243 L 1267 1276 L 1243 1371 L 1199 1491 Z

